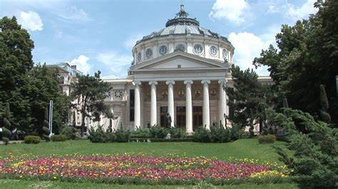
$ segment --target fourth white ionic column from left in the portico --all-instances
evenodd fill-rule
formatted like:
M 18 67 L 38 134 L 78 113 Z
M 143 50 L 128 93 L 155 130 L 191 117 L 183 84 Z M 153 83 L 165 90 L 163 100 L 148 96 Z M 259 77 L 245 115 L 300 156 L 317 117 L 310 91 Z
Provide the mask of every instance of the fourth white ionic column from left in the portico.
M 192 80 L 184 81 L 185 84 L 185 126 L 187 134 L 193 133 L 193 100 L 191 98 Z

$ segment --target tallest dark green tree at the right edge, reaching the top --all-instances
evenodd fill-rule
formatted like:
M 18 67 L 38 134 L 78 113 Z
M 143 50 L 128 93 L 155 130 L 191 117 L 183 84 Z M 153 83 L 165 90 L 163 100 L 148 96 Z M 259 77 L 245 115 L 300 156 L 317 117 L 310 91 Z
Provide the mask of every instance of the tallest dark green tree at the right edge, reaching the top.
M 283 25 L 277 48 L 262 50 L 254 65 L 267 65 L 275 90 L 285 94 L 290 107 L 319 114 L 319 85 L 326 88 L 328 112 L 338 123 L 338 1 L 317 1 L 318 13 L 294 26 Z

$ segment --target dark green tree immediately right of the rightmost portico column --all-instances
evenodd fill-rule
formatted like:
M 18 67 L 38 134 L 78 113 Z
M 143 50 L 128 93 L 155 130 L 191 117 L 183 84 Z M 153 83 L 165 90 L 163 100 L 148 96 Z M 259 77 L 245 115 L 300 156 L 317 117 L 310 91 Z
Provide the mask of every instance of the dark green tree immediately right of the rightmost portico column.
M 241 127 L 250 126 L 253 134 L 253 126 L 260 124 L 260 131 L 265 123 L 265 109 L 270 107 L 270 87 L 258 82 L 258 75 L 250 69 L 240 70 L 238 66 L 232 66 L 231 75 L 234 81 L 233 87 L 227 87 L 229 106 L 235 114 L 230 115 L 233 124 Z

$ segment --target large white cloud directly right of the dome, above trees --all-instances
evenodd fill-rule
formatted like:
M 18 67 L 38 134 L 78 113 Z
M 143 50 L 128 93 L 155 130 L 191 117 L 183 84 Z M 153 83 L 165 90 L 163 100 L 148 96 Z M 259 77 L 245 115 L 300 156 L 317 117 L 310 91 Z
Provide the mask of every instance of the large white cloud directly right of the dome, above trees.
M 259 57 L 262 49 L 266 49 L 270 45 L 270 40 L 262 41 L 259 36 L 253 33 L 230 33 L 229 41 L 235 47 L 235 64 L 241 69 L 255 69 L 252 61 L 255 57 Z M 258 75 L 269 75 L 266 67 L 260 67 L 255 70 Z

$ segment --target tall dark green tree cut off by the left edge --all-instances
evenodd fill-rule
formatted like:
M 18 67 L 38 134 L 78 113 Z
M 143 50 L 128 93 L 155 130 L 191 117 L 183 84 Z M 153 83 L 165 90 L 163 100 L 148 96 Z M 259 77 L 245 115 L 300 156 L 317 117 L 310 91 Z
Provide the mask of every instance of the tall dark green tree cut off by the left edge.
M 0 19 L 0 102 L 9 103 L 14 121 L 24 125 L 31 112 L 26 88 L 33 68 L 31 50 L 34 42 L 29 33 L 21 28 L 16 18 Z

